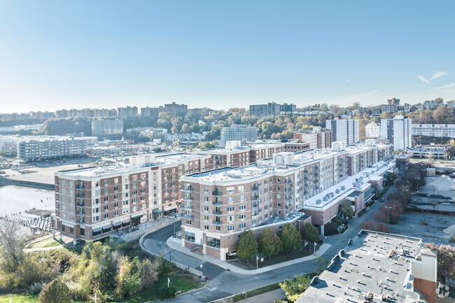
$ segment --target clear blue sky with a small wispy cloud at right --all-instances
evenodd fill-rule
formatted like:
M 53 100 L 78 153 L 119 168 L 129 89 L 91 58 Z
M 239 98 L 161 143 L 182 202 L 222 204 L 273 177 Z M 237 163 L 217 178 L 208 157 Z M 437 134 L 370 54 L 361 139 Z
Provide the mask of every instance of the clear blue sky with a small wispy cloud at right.
M 455 99 L 455 1 L 0 0 L 0 113 Z

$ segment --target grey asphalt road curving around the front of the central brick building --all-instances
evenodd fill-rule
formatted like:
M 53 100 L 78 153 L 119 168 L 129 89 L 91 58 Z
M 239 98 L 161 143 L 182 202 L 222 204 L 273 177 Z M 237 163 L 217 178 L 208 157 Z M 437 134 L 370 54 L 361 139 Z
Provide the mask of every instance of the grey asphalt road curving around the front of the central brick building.
M 388 192 L 386 192 L 384 197 L 391 191 L 393 191 L 393 186 L 388 189 Z M 356 237 L 359 232 L 359 225 L 362 224 L 363 221 L 370 219 L 373 213 L 377 211 L 380 204 L 380 202 L 374 204 L 374 206 L 372 206 L 372 208 L 370 208 L 370 210 L 361 218 L 351 219 L 349 222 L 349 230 L 344 234 L 327 237 L 325 241 L 330 244 L 331 247 L 323 254 L 323 258 L 328 260 L 332 259 L 338 251 L 346 246 L 349 239 Z M 144 237 L 143 245 L 148 251 L 157 255 L 163 255 L 167 259 L 171 257 L 172 260 L 183 265 L 190 265 L 190 267 L 202 270 L 204 276 L 207 276 L 209 279 L 209 282 L 205 288 L 176 297 L 174 300 L 171 300 L 172 302 L 210 302 L 230 295 L 236 295 L 244 290 L 252 290 L 272 283 L 281 282 L 285 279 L 292 278 L 296 274 L 309 274 L 316 269 L 315 260 L 309 260 L 295 265 L 274 269 L 262 274 L 244 275 L 228 272 L 218 265 L 203 262 L 202 260 L 193 258 L 184 253 L 179 253 L 178 251 L 171 252 L 169 246 L 166 245 L 166 240 L 169 239 L 169 237 L 172 237 L 173 233 L 174 225 L 162 228 L 161 230 Z M 202 268 L 200 268 L 201 264 Z M 165 302 L 169 302 L 169 300 L 166 300 Z

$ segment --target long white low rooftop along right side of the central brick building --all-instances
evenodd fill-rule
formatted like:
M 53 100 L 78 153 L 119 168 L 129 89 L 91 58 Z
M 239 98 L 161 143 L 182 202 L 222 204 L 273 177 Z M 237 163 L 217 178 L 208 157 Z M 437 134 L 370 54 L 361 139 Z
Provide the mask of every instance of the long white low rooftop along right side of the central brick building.
M 311 197 L 304 201 L 303 209 L 325 209 L 328 206 L 332 205 L 339 201 L 339 199 L 344 199 L 348 197 L 351 192 L 354 191 L 363 191 L 368 184 L 368 181 L 374 180 L 379 181 L 381 179 L 381 174 L 384 174 L 389 167 L 394 167 L 395 162 L 393 161 L 380 161 L 371 167 L 360 171 L 358 174 L 349 176 L 346 180 L 333 185 L 332 187 L 319 192 L 318 195 Z M 357 179 L 357 181 L 356 181 Z M 339 192 L 337 192 L 339 190 Z M 324 197 L 330 194 L 330 198 L 324 201 Z

